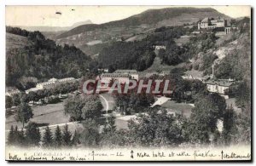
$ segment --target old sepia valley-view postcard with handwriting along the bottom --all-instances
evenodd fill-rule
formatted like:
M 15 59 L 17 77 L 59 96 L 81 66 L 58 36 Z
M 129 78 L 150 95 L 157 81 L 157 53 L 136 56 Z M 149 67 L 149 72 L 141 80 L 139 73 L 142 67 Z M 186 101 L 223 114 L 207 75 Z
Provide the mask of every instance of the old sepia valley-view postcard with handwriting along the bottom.
M 6 160 L 252 160 L 250 6 L 5 9 Z

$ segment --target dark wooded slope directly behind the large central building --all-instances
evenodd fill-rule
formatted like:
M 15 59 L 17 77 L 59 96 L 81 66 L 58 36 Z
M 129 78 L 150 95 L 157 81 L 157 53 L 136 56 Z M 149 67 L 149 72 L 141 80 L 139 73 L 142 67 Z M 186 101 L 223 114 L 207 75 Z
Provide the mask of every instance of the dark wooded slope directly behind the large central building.
M 152 65 L 155 54 L 146 42 L 117 42 L 102 49 L 98 56 L 99 66 L 116 69 L 136 69 L 143 71 Z

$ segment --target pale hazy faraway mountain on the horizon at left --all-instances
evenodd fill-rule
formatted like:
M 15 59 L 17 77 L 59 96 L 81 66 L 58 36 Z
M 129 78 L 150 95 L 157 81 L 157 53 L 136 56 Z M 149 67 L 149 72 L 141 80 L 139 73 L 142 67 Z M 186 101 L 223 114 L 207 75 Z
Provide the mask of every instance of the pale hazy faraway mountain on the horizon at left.
M 26 31 L 69 31 L 77 26 L 92 24 L 91 20 L 74 23 L 73 26 L 18 26 Z

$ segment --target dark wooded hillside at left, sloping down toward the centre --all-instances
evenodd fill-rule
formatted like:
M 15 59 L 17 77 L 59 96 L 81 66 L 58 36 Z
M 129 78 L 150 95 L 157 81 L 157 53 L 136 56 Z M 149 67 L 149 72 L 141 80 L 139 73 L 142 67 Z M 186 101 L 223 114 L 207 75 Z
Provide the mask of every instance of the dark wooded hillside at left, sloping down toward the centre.
M 74 46 L 59 46 L 40 31 L 6 27 L 6 85 L 20 89 L 21 77 L 81 77 L 90 57 Z

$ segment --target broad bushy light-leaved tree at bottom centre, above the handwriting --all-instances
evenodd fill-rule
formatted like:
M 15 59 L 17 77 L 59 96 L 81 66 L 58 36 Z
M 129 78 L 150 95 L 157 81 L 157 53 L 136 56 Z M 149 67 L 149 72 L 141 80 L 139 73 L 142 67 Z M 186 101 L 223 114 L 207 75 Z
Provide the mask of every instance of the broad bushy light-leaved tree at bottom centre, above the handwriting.
M 148 115 L 128 123 L 130 141 L 137 146 L 178 145 L 183 140 L 179 123 L 177 117 L 167 114 L 165 109 L 152 108 Z

